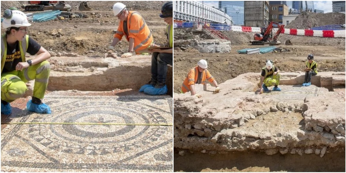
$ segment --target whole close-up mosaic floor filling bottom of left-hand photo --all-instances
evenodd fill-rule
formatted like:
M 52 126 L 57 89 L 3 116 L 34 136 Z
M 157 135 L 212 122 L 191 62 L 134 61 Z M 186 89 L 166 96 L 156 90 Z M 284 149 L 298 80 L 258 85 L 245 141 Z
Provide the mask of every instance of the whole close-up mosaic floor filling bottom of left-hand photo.
M 1 131 L 1 171 L 172 172 L 172 98 L 46 95 L 52 114 L 23 110 Z

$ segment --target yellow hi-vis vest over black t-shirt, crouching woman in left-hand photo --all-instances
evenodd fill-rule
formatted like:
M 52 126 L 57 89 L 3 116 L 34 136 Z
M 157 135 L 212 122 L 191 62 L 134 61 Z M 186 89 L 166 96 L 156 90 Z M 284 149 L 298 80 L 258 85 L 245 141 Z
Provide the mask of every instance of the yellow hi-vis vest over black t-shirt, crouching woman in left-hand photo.
M 25 62 L 25 53 L 29 46 L 29 36 L 25 35 L 25 38 L 23 40 L 19 41 L 19 45 L 21 45 L 19 46 L 19 49 L 20 49 L 20 56 L 22 58 L 22 62 Z M 7 41 L 6 41 L 6 34 L 3 34 L 1 36 L 1 72 L 6 62 L 6 56 L 7 56 Z

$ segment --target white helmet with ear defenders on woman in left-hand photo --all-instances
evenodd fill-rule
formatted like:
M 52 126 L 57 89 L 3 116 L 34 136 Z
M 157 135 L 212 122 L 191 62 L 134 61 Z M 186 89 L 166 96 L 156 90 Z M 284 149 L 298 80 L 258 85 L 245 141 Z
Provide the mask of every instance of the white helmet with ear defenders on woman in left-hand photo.
M 3 12 L 3 18 L 3 28 L 31 26 L 25 13 L 16 10 L 16 8 L 5 10 Z

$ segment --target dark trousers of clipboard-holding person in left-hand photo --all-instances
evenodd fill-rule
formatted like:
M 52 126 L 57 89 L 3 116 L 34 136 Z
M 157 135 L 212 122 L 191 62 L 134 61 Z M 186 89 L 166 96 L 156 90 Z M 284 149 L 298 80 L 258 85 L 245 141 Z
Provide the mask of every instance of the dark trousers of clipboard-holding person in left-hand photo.
M 152 83 L 164 86 L 167 78 L 167 64 L 173 65 L 173 54 L 158 53 L 152 54 Z

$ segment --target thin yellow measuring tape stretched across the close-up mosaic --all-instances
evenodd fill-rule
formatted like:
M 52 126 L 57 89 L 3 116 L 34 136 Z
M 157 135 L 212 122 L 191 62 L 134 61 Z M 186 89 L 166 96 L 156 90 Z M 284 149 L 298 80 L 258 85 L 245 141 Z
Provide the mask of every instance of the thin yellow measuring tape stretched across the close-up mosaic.
M 121 124 L 90 122 L 1 122 L 1 124 L 71 124 L 71 125 L 119 125 L 119 126 L 173 126 L 173 124 Z

